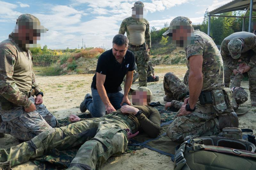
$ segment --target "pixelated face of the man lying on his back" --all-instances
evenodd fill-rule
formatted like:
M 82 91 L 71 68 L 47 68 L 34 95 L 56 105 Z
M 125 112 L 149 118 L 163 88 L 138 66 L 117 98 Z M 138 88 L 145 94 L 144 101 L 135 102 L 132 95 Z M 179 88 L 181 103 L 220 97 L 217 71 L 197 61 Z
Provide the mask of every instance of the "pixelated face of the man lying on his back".
M 152 100 L 152 95 L 146 89 L 138 89 L 131 94 L 133 105 L 148 105 Z

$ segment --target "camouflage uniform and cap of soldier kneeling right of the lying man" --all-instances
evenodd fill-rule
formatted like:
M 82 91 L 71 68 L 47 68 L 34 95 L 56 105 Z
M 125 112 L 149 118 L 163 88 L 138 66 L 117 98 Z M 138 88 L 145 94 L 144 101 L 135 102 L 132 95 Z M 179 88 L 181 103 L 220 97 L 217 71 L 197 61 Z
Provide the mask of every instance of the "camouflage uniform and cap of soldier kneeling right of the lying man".
M 172 29 L 172 25 L 181 24 L 181 22 L 189 23 L 190 26 L 192 26 L 188 18 L 177 17 L 172 20 L 170 28 L 166 33 L 169 33 Z M 215 102 L 205 105 L 197 102 L 196 110 L 186 116 L 177 116 L 180 113 L 179 110 L 174 121 L 168 127 L 166 132 L 172 141 L 182 141 L 184 137 L 188 135 L 201 136 L 217 134 L 219 133 L 219 122 L 217 116 L 234 111 L 232 105 L 230 103 L 226 105 L 225 102 L 224 93 L 228 96 L 229 101 L 231 101 L 233 94 L 230 89 L 226 88 L 224 91 L 223 62 L 220 52 L 213 40 L 205 33 L 195 30 L 191 43 L 185 46 L 185 51 L 188 69 L 188 59 L 190 56 L 203 56 L 202 92 L 212 92 Z

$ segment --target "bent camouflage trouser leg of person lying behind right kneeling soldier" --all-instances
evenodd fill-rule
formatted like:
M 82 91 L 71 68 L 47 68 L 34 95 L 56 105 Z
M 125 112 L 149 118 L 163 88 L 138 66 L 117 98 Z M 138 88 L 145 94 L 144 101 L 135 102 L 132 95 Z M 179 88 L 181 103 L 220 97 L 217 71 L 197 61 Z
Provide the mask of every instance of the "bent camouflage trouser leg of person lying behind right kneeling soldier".
M 173 72 L 168 72 L 164 75 L 164 92 L 168 98 L 182 100 L 186 97 L 188 91 L 188 86 L 182 83 Z

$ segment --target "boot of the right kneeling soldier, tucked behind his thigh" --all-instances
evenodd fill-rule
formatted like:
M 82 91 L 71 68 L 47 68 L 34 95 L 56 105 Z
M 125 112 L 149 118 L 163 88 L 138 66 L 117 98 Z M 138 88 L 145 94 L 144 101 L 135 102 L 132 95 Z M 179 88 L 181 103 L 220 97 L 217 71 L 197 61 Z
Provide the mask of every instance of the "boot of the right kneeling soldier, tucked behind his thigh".
M 235 112 L 220 115 L 218 120 L 220 130 L 223 128 L 238 128 L 238 117 Z

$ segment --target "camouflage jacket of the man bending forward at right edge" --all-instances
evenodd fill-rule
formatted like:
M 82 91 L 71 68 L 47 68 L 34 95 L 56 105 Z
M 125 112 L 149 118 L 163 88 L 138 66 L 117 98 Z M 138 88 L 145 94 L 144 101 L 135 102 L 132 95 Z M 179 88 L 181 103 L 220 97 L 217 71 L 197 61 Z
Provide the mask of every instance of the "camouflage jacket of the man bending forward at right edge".
M 233 59 L 228 51 L 228 43 L 233 38 L 240 38 L 244 42 L 241 57 L 238 59 Z M 242 59 L 249 67 L 253 67 L 256 64 L 256 57 L 250 54 L 251 50 L 256 53 L 256 35 L 248 32 L 232 33 L 222 41 L 220 46 L 223 62 L 231 70 L 237 68 L 239 59 Z

